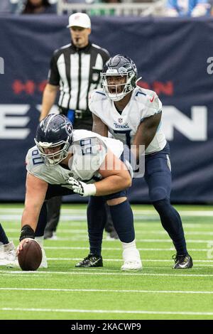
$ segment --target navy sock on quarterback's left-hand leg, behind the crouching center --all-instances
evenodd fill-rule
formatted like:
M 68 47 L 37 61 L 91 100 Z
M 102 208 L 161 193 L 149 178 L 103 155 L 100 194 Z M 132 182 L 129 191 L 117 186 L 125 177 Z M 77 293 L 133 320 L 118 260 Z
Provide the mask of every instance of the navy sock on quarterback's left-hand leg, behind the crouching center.
M 107 221 L 105 201 L 102 197 L 91 196 L 87 206 L 87 225 L 89 234 L 89 251 L 99 257 L 102 253 L 102 238 Z

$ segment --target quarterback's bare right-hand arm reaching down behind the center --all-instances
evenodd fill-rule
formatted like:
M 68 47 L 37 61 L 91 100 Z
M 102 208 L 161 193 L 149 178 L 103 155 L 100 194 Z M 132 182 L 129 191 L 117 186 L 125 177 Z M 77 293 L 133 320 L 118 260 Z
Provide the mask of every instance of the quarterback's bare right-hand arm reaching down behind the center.
M 144 150 L 153 140 L 155 133 L 160 124 L 162 112 L 154 114 L 153 116 L 146 117 L 143 119 L 141 124 L 138 126 L 136 136 L 133 140 L 133 145 L 136 145 L 136 158 L 139 158 L 139 153 L 144 153 Z M 143 151 L 139 150 L 140 145 L 143 145 Z

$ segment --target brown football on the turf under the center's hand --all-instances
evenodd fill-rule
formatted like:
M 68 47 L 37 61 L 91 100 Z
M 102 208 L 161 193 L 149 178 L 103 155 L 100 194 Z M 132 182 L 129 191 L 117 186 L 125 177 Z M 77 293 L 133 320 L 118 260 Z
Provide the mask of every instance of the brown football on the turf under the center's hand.
M 34 239 L 23 243 L 23 249 L 18 254 L 18 264 L 24 271 L 37 270 L 42 260 L 40 245 Z

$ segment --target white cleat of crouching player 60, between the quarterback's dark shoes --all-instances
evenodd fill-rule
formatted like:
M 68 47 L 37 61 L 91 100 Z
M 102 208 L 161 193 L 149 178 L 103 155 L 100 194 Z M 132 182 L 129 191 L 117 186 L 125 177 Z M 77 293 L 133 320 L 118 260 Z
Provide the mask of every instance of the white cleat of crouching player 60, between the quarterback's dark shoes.
M 142 270 L 142 262 L 138 249 L 124 249 L 124 264 L 121 266 L 122 271 Z

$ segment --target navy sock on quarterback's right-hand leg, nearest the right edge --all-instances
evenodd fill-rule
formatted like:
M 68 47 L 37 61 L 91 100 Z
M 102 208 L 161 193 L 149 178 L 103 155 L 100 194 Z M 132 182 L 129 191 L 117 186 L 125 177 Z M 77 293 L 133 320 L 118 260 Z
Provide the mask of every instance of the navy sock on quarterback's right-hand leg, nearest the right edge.
M 161 224 L 173 240 L 178 255 L 187 254 L 185 236 L 182 228 L 180 215 L 168 199 L 153 202 L 155 209 L 160 215 Z

